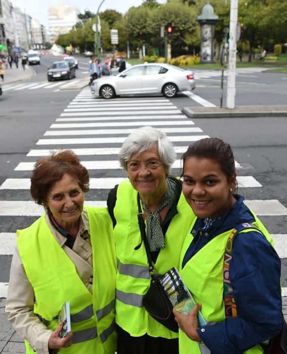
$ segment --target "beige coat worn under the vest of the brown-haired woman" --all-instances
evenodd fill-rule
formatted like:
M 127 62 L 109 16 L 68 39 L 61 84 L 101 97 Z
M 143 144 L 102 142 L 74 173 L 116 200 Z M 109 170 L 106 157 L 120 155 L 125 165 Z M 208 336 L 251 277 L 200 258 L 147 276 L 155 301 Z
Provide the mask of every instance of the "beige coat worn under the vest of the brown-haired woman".
M 79 232 L 73 249 L 65 245 L 66 238 L 51 224 L 48 215 L 46 222 L 63 250 L 75 265 L 78 276 L 93 293 L 93 249 L 91 246 L 89 220 L 84 209 L 80 217 Z M 33 312 L 34 290 L 26 276 L 18 248 L 15 249 L 6 301 L 6 312 L 17 333 L 28 340 L 37 354 L 49 354 L 48 341 L 52 330 L 48 329 Z

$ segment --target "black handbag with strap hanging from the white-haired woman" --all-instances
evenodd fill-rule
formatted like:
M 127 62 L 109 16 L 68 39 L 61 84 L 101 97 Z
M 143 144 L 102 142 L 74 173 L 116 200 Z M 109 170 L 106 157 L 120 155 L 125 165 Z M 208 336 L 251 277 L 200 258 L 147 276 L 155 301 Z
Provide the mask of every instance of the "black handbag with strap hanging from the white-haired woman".
M 148 259 L 148 271 L 150 275 L 150 286 L 147 293 L 143 297 L 143 306 L 146 311 L 152 316 L 157 322 L 161 323 L 163 326 L 167 327 L 173 332 L 178 332 L 178 324 L 175 321 L 173 314 L 173 305 L 168 298 L 168 295 L 161 285 L 162 275 L 154 273 L 154 267 L 152 264 L 150 248 L 145 231 L 145 217 L 141 210 L 140 198 L 138 195 L 138 222 L 141 232 L 141 240 L 144 242 L 145 251 Z M 142 242 L 140 243 L 140 245 Z M 139 246 L 140 246 L 139 245 Z M 138 249 L 136 247 L 135 249 Z

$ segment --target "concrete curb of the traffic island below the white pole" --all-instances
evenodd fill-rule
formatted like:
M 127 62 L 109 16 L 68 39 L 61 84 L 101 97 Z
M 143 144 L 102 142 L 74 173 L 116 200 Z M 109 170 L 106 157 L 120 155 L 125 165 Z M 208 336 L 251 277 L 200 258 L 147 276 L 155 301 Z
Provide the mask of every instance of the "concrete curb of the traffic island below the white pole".
M 258 118 L 258 117 L 287 117 L 287 111 L 236 111 L 236 112 L 195 112 L 188 107 L 182 109 L 188 118 Z

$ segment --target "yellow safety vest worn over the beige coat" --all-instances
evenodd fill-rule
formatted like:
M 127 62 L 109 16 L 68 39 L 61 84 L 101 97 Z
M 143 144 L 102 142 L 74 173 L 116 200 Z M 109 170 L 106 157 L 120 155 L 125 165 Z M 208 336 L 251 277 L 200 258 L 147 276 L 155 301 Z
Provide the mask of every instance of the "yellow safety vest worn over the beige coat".
M 65 301 L 70 301 L 72 345 L 69 354 L 114 354 L 116 258 L 112 223 L 106 208 L 85 207 L 93 247 L 93 295 L 77 275 L 75 265 L 52 235 L 45 215 L 17 231 L 17 244 L 34 294 L 34 313 L 55 330 Z M 26 352 L 33 353 L 25 341 Z

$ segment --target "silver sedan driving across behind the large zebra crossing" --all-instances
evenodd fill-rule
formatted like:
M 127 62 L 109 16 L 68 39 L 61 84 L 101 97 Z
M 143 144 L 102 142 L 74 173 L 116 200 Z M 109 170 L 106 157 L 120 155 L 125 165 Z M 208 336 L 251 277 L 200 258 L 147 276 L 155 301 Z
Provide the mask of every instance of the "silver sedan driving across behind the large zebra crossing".
M 92 94 L 104 99 L 147 94 L 173 98 L 178 92 L 194 89 L 193 71 L 159 63 L 135 65 L 115 76 L 96 79 L 91 85 Z

